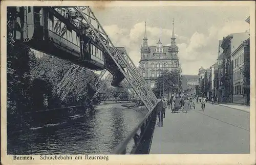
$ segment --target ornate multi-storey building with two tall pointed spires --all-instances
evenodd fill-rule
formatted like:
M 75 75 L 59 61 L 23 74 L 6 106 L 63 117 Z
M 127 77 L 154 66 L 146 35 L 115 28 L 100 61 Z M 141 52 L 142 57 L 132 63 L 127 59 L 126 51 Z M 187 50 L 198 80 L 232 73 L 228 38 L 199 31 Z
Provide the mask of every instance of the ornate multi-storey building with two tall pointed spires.
M 176 70 L 179 71 L 181 75 L 181 66 L 178 57 L 179 50 L 175 39 L 173 20 L 173 32 L 170 46 L 163 46 L 160 39 L 156 46 L 148 46 L 145 22 L 143 45 L 140 48 L 141 60 L 139 61 L 139 70 L 147 83 L 150 84 L 151 88 L 154 88 L 157 77 L 160 76 L 164 70 Z

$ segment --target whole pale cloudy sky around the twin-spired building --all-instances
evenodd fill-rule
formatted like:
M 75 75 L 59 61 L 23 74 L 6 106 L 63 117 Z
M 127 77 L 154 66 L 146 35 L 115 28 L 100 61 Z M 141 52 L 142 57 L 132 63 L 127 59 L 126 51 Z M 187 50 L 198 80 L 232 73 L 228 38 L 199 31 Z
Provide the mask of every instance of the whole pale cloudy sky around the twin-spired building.
M 144 21 L 149 45 L 155 46 L 159 38 L 167 45 L 174 17 L 182 74 L 198 74 L 201 66 L 214 64 L 218 40 L 249 29 L 248 7 L 107 7 L 93 12 L 115 46 L 125 46 L 137 66 Z

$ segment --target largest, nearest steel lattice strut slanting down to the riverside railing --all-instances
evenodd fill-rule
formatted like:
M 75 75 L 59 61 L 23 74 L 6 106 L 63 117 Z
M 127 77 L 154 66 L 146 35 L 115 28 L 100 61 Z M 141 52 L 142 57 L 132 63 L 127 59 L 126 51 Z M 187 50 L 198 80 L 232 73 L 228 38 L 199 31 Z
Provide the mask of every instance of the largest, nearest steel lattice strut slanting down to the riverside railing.
M 113 45 L 109 36 L 105 33 L 101 24 L 89 7 L 73 7 L 73 9 L 81 16 L 83 19 L 81 21 L 88 25 L 88 30 L 90 31 L 90 34 L 92 34 L 91 37 L 98 41 L 100 46 L 105 49 L 116 63 L 118 69 L 125 76 L 126 80 L 144 103 L 148 111 L 153 109 L 158 103 L 158 100 L 144 78 L 140 75 L 133 61 L 129 56 L 127 56 L 126 51 L 122 53 Z M 115 57 L 112 53 L 115 54 Z

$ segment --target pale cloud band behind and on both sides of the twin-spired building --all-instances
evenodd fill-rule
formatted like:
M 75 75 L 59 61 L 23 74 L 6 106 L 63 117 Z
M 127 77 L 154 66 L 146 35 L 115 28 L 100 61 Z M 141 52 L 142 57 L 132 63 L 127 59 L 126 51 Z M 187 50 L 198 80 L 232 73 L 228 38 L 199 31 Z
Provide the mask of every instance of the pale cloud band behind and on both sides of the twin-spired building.
M 134 24 L 131 29 L 120 28 L 118 25 L 103 26 L 115 46 L 124 46 L 136 66 L 140 60 L 140 45 L 144 37 L 144 22 Z M 161 40 L 164 45 L 170 45 L 172 29 L 161 29 L 156 26 L 146 26 L 148 45 L 156 45 Z M 183 74 L 197 74 L 198 69 L 210 67 L 218 57 L 218 40 L 231 33 L 241 33 L 249 29 L 245 21 L 230 21 L 210 26 L 206 32 L 195 31 L 191 36 L 175 35 L 179 47 L 178 56 Z

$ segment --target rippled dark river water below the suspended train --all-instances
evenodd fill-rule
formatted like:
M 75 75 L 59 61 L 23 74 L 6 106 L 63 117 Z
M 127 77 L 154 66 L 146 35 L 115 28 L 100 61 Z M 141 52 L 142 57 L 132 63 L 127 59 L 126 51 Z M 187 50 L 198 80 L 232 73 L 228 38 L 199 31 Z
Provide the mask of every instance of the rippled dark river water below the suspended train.
M 8 154 L 109 154 L 145 116 L 147 110 L 121 103 L 100 104 L 90 119 L 35 128 L 8 137 Z

